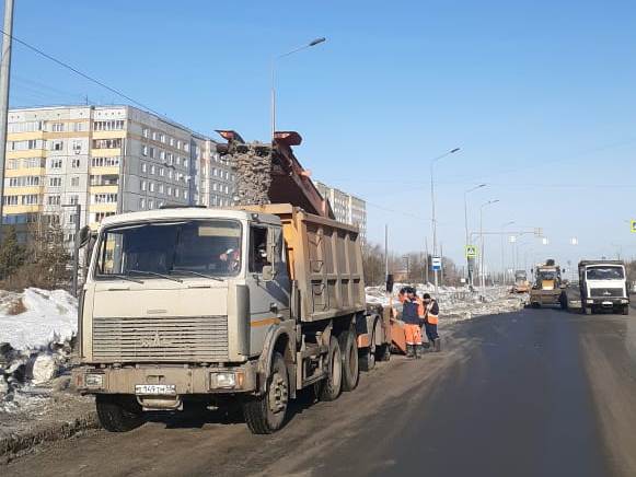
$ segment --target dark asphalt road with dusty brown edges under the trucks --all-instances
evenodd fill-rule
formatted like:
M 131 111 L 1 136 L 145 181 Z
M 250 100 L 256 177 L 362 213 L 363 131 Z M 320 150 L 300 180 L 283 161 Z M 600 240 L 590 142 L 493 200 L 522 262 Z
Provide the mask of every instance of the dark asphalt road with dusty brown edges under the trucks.
M 334 403 L 305 397 L 273 437 L 213 415 L 93 431 L 2 475 L 636 475 L 636 311 L 524 310 L 446 333 Z

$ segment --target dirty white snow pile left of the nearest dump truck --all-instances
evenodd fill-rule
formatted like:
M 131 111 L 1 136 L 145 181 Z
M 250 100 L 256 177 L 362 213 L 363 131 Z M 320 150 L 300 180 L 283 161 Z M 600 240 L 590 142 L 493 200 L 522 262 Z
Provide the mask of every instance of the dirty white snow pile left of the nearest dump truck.
M 50 388 L 39 387 L 45 383 L 68 386 L 62 374 L 70 365 L 77 307 L 63 290 L 0 291 L 0 411 L 46 398 Z

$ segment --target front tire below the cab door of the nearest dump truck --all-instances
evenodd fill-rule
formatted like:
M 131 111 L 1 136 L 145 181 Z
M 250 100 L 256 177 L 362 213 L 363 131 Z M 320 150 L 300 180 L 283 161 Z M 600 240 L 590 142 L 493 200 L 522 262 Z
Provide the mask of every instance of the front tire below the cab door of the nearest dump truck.
M 285 360 L 275 352 L 271 372 L 262 396 L 243 402 L 245 423 L 253 434 L 270 434 L 282 427 L 289 403 L 289 376 Z

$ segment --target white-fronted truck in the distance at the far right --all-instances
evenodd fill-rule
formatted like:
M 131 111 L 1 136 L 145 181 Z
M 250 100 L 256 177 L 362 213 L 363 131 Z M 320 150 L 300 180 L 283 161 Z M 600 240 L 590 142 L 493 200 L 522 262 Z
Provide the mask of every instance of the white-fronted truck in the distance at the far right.
M 622 261 L 580 261 L 579 287 L 582 313 L 597 313 L 604 309 L 629 314 L 629 290 Z

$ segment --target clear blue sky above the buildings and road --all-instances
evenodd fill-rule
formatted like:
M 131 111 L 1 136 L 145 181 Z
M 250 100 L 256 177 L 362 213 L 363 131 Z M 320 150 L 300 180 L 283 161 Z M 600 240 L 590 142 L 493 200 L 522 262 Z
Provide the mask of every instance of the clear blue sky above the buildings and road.
M 266 140 L 271 56 L 326 36 L 280 61 L 278 126 L 315 178 L 369 201 L 371 241 L 384 223 L 400 252 L 430 241 L 429 161 L 461 147 L 436 173 L 453 259 L 479 182 L 471 229 L 499 199 L 486 229 L 550 237 L 524 238 L 529 258 L 636 255 L 634 2 L 15 1 L 16 37 L 209 135 Z M 13 73 L 14 106 L 123 102 L 20 46 Z

